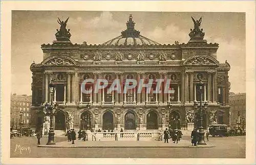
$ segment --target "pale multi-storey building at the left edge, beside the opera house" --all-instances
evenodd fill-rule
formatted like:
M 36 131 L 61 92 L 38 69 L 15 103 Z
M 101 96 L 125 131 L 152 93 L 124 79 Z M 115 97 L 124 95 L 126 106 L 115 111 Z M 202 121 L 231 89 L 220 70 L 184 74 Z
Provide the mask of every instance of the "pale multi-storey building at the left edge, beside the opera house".
M 31 123 L 31 107 L 32 96 L 27 95 L 11 95 L 11 122 L 13 129 L 30 128 Z

